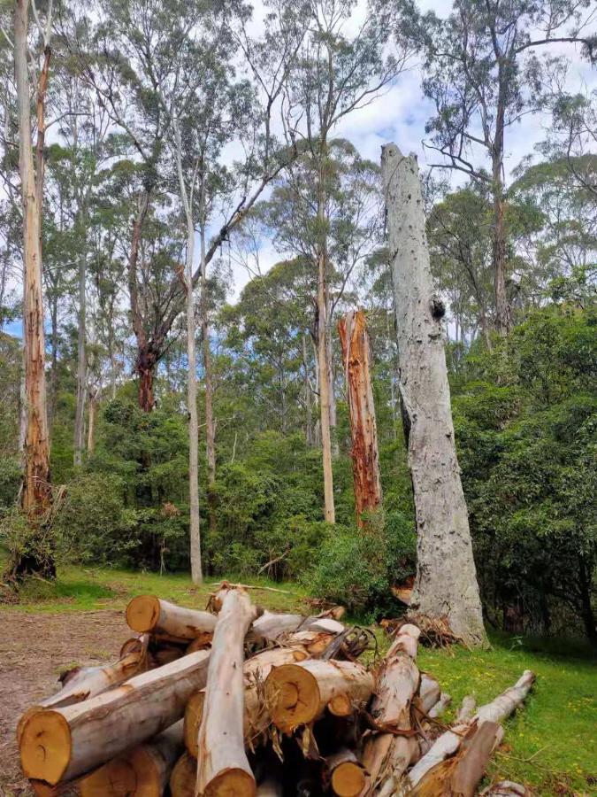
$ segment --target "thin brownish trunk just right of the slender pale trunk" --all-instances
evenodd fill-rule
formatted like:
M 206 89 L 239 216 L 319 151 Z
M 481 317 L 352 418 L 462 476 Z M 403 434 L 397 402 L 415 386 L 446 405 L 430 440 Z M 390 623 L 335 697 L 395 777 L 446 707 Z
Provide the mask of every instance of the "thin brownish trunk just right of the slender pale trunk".
M 207 263 L 205 262 L 205 220 L 202 196 L 201 224 L 201 333 L 203 342 L 203 370 L 205 372 L 205 448 L 207 453 L 207 503 L 210 531 L 218 526 L 216 515 L 216 424 L 213 419 L 213 375 L 211 370 L 210 320 L 207 295 Z

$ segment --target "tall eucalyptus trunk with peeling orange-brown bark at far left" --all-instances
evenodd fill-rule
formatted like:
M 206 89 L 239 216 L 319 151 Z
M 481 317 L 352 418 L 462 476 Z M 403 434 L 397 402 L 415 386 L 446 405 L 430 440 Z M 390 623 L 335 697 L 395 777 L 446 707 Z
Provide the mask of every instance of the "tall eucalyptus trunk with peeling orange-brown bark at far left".
M 51 505 L 50 443 L 46 407 L 45 344 L 42 305 L 41 210 L 42 185 L 35 184 L 31 147 L 31 111 L 27 74 L 28 0 L 17 0 L 14 15 L 14 67 L 19 106 L 19 172 L 23 202 L 24 335 L 25 393 L 27 428 L 25 434 L 25 472 L 22 507 L 32 522 L 41 520 Z M 49 50 L 49 48 L 47 48 Z M 43 97 L 47 83 L 49 52 L 44 58 L 46 74 L 40 76 L 38 115 L 43 117 Z M 40 110 L 40 104 L 42 108 Z M 43 128 L 43 125 L 42 125 Z M 32 550 L 14 563 L 18 575 L 29 571 L 53 576 L 53 554 L 45 546 Z

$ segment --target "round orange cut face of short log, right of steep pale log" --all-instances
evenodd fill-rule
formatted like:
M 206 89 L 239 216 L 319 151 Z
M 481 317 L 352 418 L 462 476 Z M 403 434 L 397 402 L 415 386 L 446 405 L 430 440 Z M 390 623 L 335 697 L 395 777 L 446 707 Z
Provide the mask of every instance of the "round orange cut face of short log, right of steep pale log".
M 265 700 L 272 721 L 282 731 L 310 723 L 318 715 L 319 687 L 307 669 L 282 664 L 272 669 L 265 682 Z

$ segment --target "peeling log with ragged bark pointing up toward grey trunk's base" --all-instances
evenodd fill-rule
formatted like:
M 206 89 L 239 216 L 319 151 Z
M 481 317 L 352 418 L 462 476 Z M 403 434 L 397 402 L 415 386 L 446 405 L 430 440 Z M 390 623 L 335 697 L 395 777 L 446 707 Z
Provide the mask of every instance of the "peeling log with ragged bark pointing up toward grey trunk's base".
M 380 732 L 365 740 L 363 751 L 364 767 L 370 776 L 367 793 L 373 793 L 381 784 L 398 782 L 418 752 L 417 739 L 408 731 L 410 703 L 419 685 L 415 664 L 419 635 L 416 625 L 403 625 L 379 673 L 371 715 Z M 388 732 L 383 731 L 385 727 Z M 407 735 L 390 731 L 406 731 Z

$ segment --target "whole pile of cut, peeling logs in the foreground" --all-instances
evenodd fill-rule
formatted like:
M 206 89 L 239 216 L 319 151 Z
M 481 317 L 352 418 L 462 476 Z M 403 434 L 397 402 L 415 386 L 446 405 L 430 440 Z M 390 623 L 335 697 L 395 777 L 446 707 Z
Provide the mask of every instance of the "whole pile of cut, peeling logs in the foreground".
M 229 584 L 209 609 L 135 598 L 138 636 L 118 662 L 66 674 L 27 709 L 19 752 L 34 793 L 473 795 L 534 681 L 527 671 L 478 708 L 465 698 L 448 727 L 450 698 L 418 669 L 413 624 L 366 666 L 370 638 L 337 610 L 261 612 Z

